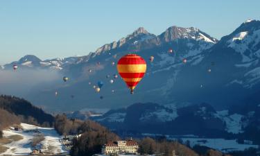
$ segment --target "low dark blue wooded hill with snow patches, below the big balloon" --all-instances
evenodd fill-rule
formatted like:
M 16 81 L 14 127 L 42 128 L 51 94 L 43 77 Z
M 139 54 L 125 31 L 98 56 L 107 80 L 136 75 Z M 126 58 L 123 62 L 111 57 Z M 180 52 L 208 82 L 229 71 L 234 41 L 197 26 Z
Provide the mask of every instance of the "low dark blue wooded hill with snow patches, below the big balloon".
M 92 119 L 112 130 L 125 132 L 245 137 L 252 130 L 258 130 L 259 134 L 259 113 L 260 105 L 235 106 L 216 111 L 207 103 L 177 109 L 155 103 L 137 103 L 124 109 L 110 110 L 103 116 L 94 116 Z M 260 141 L 252 136 L 250 139 Z

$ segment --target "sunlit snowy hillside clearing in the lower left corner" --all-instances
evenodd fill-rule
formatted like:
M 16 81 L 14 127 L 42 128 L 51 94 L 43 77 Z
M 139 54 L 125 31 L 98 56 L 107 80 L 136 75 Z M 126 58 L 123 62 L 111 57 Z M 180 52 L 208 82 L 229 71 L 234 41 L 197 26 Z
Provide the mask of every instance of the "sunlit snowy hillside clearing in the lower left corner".
M 31 139 L 37 134 L 43 134 L 45 139 L 41 141 L 40 146 L 42 153 L 58 154 L 65 153 L 64 147 L 60 143 L 61 136 L 53 128 L 41 128 L 35 125 L 28 125 L 21 123 L 23 130 L 15 131 L 3 130 L 4 137 L 10 137 L 12 135 L 20 135 L 23 139 L 19 141 L 12 141 L 10 144 L 6 144 L 8 150 L 0 155 L 28 155 L 31 153 Z

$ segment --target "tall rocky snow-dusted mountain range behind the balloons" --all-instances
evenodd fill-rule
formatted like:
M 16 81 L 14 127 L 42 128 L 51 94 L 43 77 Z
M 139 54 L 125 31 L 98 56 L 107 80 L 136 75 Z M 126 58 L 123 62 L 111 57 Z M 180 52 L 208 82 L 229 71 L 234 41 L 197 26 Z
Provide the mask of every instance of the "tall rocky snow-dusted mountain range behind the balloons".
M 168 53 L 169 49 L 173 53 Z M 113 62 L 127 53 L 137 53 L 147 63 L 146 75 L 133 95 L 121 78 L 113 78 L 118 74 Z M 149 61 L 151 55 L 153 62 Z M 57 72 L 60 80 L 38 85 L 23 95 L 48 110 L 119 108 L 152 101 L 177 108 L 209 103 L 216 110 L 225 110 L 232 105 L 260 103 L 259 58 L 260 21 L 248 20 L 220 40 L 193 27 L 171 26 L 160 35 L 141 27 L 85 56 L 40 60 L 26 55 L 1 70 L 11 70 L 16 64 L 20 72 Z M 69 78 L 67 83 L 62 83 L 63 76 Z M 104 86 L 96 93 L 93 85 L 100 80 Z

